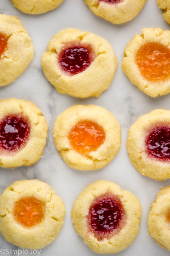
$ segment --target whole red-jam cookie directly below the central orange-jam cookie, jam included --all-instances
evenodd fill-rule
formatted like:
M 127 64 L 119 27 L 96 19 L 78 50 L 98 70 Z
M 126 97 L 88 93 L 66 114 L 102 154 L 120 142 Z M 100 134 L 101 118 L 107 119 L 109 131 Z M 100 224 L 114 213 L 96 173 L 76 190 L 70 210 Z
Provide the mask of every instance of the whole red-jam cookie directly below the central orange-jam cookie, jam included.
M 96 253 L 116 253 L 135 239 L 141 205 L 135 195 L 115 183 L 99 180 L 87 186 L 72 209 L 75 231 Z

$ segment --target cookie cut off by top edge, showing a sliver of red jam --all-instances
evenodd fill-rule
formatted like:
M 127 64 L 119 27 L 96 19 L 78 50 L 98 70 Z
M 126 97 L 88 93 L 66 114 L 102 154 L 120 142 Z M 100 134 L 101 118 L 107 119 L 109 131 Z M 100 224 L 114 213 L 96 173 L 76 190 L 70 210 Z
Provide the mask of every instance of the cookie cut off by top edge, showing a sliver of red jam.
M 113 24 L 122 24 L 134 19 L 146 0 L 84 0 L 97 16 Z

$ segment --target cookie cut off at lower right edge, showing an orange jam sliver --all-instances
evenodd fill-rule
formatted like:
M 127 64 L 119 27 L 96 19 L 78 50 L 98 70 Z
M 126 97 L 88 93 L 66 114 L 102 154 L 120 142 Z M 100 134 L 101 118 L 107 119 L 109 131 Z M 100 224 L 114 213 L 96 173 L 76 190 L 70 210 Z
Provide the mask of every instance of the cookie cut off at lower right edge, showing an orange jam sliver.
M 162 188 L 151 205 L 148 232 L 163 248 L 170 251 L 170 186 Z

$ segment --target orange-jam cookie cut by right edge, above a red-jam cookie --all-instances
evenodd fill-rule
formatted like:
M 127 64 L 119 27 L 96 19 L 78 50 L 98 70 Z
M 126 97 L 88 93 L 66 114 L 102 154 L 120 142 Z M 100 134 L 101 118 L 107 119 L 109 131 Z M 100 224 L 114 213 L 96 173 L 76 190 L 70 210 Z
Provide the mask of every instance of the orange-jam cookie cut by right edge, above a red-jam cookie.
M 143 28 L 125 48 L 122 68 L 138 89 L 157 97 L 170 92 L 170 31 Z

